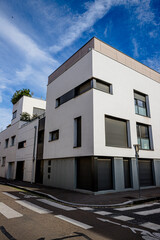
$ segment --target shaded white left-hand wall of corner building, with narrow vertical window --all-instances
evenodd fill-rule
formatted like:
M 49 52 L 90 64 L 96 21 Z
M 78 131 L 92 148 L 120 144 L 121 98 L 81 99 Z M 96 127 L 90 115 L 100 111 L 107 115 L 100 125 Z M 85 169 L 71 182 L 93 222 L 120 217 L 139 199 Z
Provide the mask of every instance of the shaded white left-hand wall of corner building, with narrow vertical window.
M 47 88 L 44 159 L 93 154 L 93 90 L 55 108 L 56 99 L 92 76 L 90 51 Z M 74 118 L 82 117 L 82 146 L 74 148 Z M 59 129 L 59 139 L 48 142 L 49 132 Z

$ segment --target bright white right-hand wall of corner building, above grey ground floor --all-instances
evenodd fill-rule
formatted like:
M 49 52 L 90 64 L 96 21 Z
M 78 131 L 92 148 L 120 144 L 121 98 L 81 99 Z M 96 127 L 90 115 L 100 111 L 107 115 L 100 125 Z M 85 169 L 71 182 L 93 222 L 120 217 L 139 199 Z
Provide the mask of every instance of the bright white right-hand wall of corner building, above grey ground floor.
M 160 84 L 94 50 L 93 76 L 113 85 L 113 95 L 94 89 L 94 155 L 134 157 L 136 122 L 152 126 L 154 151 L 140 150 L 140 158 L 160 156 Z M 151 118 L 135 114 L 133 90 L 149 96 Z M 132 148 L 105 146 L 105 115 L 130 121 Z

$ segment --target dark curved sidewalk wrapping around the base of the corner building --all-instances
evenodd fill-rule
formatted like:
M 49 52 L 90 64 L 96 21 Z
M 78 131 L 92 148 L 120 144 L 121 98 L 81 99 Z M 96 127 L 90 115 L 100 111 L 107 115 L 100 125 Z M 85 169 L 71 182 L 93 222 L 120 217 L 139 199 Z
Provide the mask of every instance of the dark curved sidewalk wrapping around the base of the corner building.
M 138 204 L 152 200 L 160 200 L 160 188 L 141 189 L 141 198 L 139 199 L 138 191 L 93 195 L 46 187 L 39 184 L 31 184 L 28 182 L 7 180 L 3 178 L 0 178 L 0 183 L 15 186 L 24 190 L 29 190 L 30 192 L 36 193 L 43 197 L 48 197 L 58 202 L 71 205 L 110 206 L 115 204 Z

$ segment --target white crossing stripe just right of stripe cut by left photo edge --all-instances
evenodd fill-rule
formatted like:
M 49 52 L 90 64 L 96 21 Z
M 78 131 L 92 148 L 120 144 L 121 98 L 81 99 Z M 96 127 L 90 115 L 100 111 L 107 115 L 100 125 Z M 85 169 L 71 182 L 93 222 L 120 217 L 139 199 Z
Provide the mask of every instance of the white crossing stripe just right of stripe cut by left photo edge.
M 42 208 L 42 207 L 39 207 L 33 203 L 30 203 L 28 201 L 25 201 L 25 200 L 17 200 L 16 203 L 22 205 L 23 207 L 26 207 L 36 213 L 39 213 L 39 214 L 47 214 L 47 213 L 52 213 L 51 211 L 45 209 L 45 208 Z

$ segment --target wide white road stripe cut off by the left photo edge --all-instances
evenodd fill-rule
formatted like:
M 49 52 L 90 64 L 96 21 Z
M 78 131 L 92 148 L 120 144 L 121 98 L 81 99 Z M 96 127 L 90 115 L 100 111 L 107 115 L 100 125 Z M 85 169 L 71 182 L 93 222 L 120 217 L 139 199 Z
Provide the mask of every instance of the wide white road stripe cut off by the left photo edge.
M 22 214 L 8 207 L 6 204 L 2 202 L 0 202 L 0 213 L 8 219 L 23 216 Z

